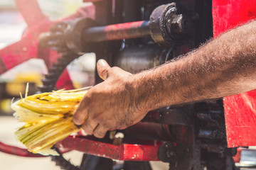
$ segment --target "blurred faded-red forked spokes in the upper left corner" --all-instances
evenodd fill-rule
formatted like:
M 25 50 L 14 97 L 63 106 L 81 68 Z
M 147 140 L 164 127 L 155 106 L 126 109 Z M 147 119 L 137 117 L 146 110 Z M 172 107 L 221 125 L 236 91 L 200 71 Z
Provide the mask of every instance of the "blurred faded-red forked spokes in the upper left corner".
M 0 74 L 22 62 L 38 57 L 38 35 L 53 26 L 53 23 L 43 15 L 36 0 L 16 0 L 16 4 L 28 28 L 20 41 L 0 50 Z

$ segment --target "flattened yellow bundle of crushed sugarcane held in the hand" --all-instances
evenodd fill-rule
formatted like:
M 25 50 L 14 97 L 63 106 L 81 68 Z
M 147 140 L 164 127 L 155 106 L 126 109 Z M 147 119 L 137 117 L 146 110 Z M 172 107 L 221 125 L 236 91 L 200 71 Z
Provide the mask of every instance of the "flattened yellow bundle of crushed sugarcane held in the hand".
M 58 155 L 53 145 L 78 132 L 73 123 L 73 112 L 88 88 L 59 90 L 33 96 L 25 96 L 11 105 L 18 121 L 26 123 L 15 134 L 28 151 L 44 155 Z

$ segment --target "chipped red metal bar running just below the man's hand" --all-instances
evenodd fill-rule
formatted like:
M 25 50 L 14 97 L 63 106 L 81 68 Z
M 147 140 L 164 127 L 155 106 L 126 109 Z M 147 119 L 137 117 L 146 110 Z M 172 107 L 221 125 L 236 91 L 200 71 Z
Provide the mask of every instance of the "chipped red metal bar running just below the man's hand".
M 159 161 L 157 153 L 160 145 L 112 145 L 84 137 L 68 137 L 56 146 L 60 151 L 72 149 L 121 161 Z

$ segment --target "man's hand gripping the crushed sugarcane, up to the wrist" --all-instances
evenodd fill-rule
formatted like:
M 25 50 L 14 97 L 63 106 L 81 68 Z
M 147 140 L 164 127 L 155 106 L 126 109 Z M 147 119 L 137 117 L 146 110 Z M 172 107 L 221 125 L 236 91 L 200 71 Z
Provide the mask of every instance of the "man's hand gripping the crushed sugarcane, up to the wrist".
M 92 87 L 74 113 L 74 123 L 82 125 L 87 135 L 104 137 L 108 130 L 124 129 L 138 123 L 147 111 L 139 111 L 132 86 L 133 74 L 97 62 L 97 72 L 105 80 Z

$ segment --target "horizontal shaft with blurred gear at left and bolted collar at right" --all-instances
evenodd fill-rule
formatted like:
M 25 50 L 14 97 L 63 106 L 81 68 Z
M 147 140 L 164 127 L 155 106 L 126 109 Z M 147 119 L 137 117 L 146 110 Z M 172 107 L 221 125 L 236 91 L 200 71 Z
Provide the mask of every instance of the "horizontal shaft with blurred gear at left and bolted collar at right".
M 151 36 L 158 45 L 173 47 L 188 39 L 190 21 L 186 14 L 179 12 L 176 3 L 171 3 L 155 8 L 149 21 L 96 27 L 96 22 L 90 18 L 57 23 L 50 33 L 41 34 L 39 44 L 80 54 L 92 52 L 95 42 Z

